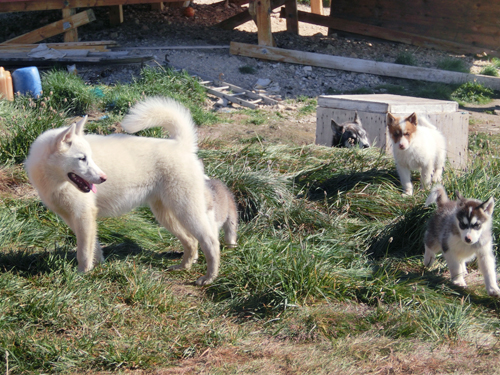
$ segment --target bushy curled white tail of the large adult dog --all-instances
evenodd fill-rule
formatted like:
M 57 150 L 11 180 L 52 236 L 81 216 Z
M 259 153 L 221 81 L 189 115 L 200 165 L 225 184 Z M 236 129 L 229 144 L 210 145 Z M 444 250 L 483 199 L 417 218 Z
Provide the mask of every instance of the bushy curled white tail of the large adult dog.
M 198 150 L 196 126 L 189 110 L 179 102 L 162 97 L 147 98 L 138 102 L 121 122 L 127 133 L 161 126 L 171 139 L 192 152 Z

